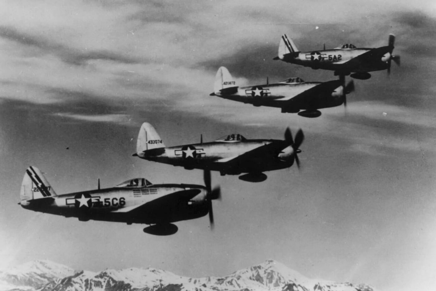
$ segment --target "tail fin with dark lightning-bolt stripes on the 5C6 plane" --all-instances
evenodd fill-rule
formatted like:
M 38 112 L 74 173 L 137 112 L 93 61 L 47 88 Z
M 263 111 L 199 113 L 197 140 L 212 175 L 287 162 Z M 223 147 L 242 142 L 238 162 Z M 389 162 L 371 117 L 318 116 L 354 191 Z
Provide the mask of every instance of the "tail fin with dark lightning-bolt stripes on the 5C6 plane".
M 23 183 L 21 183 L 20 201 L 25 202 L 55 196 L 57 195 L 54 189 L 47 182 L 41 171 L 33 166 L 27 168 Z

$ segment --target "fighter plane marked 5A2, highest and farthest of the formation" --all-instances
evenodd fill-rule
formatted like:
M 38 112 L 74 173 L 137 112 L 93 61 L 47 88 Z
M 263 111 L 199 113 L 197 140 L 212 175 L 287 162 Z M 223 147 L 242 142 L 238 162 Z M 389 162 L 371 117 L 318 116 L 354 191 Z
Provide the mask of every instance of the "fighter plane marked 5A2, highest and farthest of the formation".
M 392 54 L 395 36 L 389 34 L 388 45 L 378 48 L 357 48 L 353 44 L 343 44 L 332 50 L 299 51 L 292 39 L 286 34 L 279 44 L 279 55 L 274 60 L 300 64 L 313 69 L 334 71 L 335 75 L 349 75 L 352 78 L 366 80 L 371 71 L 387 70 L 391 72 L 391 61 L 400 64 L 400 57 Z

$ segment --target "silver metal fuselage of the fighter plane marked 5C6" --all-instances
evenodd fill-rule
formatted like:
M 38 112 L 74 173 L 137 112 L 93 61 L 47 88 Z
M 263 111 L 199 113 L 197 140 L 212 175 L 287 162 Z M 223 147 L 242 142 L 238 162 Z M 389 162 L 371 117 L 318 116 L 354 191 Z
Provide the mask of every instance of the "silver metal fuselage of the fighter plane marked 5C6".
M 206 215 L 206 196 L 207 190 L 201 185 L 162 184 L 82 191 L 20 204 L 25 209 L 80 220 L 152 224 Z

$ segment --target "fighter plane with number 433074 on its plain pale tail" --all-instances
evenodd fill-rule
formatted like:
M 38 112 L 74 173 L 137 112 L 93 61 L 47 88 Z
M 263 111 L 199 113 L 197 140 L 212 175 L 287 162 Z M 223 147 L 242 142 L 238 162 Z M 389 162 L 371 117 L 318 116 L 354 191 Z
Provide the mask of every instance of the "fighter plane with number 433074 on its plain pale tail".
M 136 143 L 136 153 L 141 159 L 162 162 L 185 169 L 206 169 L 219 171 L 224 175 L 239 175 L 239 179 L 249 182 L 262 182 L 266 175 L 262 172 L 284 169 L 300 165 L 297 153 L 304 135 L 300 129 L 293 140 L 289 128 L 285 140 L 245 139 L 240 134 L 225 135 L 214 142 L 177 145 L 166 147 L 150 123 L 144 122 Z

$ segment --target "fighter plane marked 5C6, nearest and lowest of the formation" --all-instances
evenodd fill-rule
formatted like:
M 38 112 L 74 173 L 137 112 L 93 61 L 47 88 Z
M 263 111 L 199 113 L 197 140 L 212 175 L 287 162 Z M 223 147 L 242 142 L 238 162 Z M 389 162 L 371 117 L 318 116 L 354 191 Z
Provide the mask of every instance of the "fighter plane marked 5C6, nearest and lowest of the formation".
M 219 187 L 211 189 L 210 171 L 204 171 L 206 186 L 191 184 L 153 185 L 144 178 L 135 178 L 112 188 L 57 195 L 37 167 L 30 166 L 24 174 L 20 205 L 28 210 L 77 217 L 78 220 L 146 223 L 145 233 L 169 235 L 181 220 L 203 217 L 209 213 L 214 224 L 212 201 L 220 197 Z

